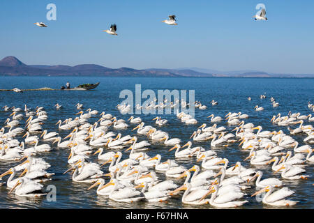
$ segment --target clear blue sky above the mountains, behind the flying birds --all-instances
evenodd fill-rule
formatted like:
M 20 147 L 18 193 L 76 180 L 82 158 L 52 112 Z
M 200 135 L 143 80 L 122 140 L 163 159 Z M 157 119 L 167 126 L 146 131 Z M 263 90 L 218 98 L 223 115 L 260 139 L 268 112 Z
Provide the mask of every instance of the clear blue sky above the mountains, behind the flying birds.
M 46 20 L 48 3 L 56 4 L 57 21 Z M 266 6 L 268 21 L 253 20 L 257 3 Z M 310 0 L 1 0 L 0 57 L 27 64 L 314 73 L 313 11 Z M 170 14 L 178 26 L 160 22 Z M 102 32 L 112 23 L 119 36 Z

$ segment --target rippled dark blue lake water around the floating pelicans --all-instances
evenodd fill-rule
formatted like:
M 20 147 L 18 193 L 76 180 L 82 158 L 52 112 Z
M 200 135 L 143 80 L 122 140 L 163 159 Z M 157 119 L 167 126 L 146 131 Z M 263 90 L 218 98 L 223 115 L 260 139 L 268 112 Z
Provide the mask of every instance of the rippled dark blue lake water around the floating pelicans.
M 170 125 L 160 128 L 170 134 L 170 138 L 178 137 L 185 144 L 190 135 L 202 123 L 211 125 L 209 118 L 210 114 L 215 116 L 225 116 L 227 112 L 242 112 L 248 114 L 249 118 L 246 122 L 261 125 L 263 130 L 283 130 L 288 133 L 286 127 L 272 125 L 270 120 L 273 115 L 279 112 L 282 115 L 287 115 L 289 111 L 292 113 L 301 112 L 301 114 L 313 114 L 307 105 L 308 101 L 314 102 L 314 79 L 272 79 L 272 78 L 128 78 L 128 77 L 0 77 L 0 89 L 38 89 L 41 87 L 50 87 L 52 89 L 60 89 L 60 86 L 70 82 L 71 86 L 77 86 L 84 83 L 100 82 L 97 89 L 93 91 L 25 91 L 24 93 L 0 92 L 0 107 L 8 105 L 9 107 L 22 107 L 27 104 L 27 107 L 45 107 L 48 113 L 48 120 L 43 125 L 48 132 L 56 131 L 55 123 L 59 119 L 64 120 L 69 117 L 75 117 L 77 109 L 75 105 L 80 102 L 84 105 L 84 110 L 91 108 L 98 112 L 110 113 L 118 118 L 128 119 L 130 115 L 122 115 L 117 110 L 116 106 L 123 99 L 119 98 L 119 93 L 124 89 L 135 91 L 135 84 L 141 84 L 142 91 L 151 89 L 173 89 L 177 90 L 195 90 L 195 100 L 200 100 L 202 105 L 207 105 L 205 110 L 195 109 L 195 118 L 197 125 L 185 125 L 177 119 L 174 114 L 161 115 L 166 118 Z M 267 98 L 260 99 L 260 94 L 266 93 Z M 248 101 L 248 96 L 252 100 Z M 272 107 L 269 98 L 274 97 L 280 103 L 279 107 Z M 212 107 L 211 100 L 218 101 L 218 105 Z M 142 102 L 144 99 L 142 100 Z M 59 102 L 63 109 L 57 111 L 54 105 Z M 255 105 L 264 107 L 264 111 L 255 112 Z M 0 126 L 8 117 L 9 112 L 0 112 Z M 155 125 L 151 119 L 156 115 L 141 115 L 142 120 L 147 125 Z M 98 116 L 91 118 L 90 123 L 98 120 Z M 308 122 L 304 123 L 307 125 Z M 311 123 L 313 125 L 313 123 Z M 218 123 L 218 126 L 225 126 L 227 130 L 232 130 L 234 126 L 227 125 L 224 121 Z M 292 126 L 297 128 L 298 125 Z M 131 126 L 133 127 L 133 126 Z M 135 132 L 128 130 L 114 130 L 121 132 L 122 135 L 134 135 Z M 60 131 L 61 137 L 65 137 L 68 131 Z M 303 139 L 306 135 L 292 136 L 303 145 Z M 20 139 L 20 137 L 17 137 Z M 140 137 L 140 139 L 146 139 Z M 193 142 L 193 146 L 203 146 L 206 149 L 210 148 L 210 141 Z M 57 201 L 47 201 L 46 199 L 24 199 L 13 194 L 8 195 L 6 186 L 0 187 L 0 208 L 212 208 L 209 205 L 205 206 L 188 206 L 181 203 L 181 197 L 169 199 L 167 203 L 119 203 L 101 197 L 96 194 L 96 189 L 87 190 L 89 184 L 73 183 L 70 174 L 63 175 L 62 173 L 68 169 L 67 157 L 68 150 L 57 149 L 40 154 L 38 157 L 43 157 L 49 162 L 52 167 L 47 171 L 55 173 L 53 180 L 47 185 L 55 185 L 57 187 Z M 147 151 L 148 155 L 153 157 L 157 153 L 162 156 L 162 161 L 167 160 L 167 157 L 174 159 L 174 152 L 167 152 L 170 147 L 162 144 L 152 144 L 151 149 Z M 230 160 L 230 165 L 234 162 L 241 161 L 245 167 L 250 167 L 248 161 L 243 161 L 248 155 L 246 152 L 239 151 L 238 144 L 234 144 L 224 149 L 216 150 L 219 157 L 226 157 Z M 126 157 L 126 153 L 124 153 Z M 91 156 L 91 162 L 98 162 L 96 155 Z M 196 160 L 177 160 L 179 164 L 183 164 L 187 168 L 192 167 Z M 8 170 L 16 165 L 16 162 L 0 162 L 0 173 Z M 200 163 L 199 163 L 200 164 Z M 252 167 L 256 168 L 256 167 Z M 274 177 L 271 167 L 258 167 L 263 171 L 263 178 Z M 313 164 L 306 164 L 306 173 L 311 175 L 308 180 L 283 180 L 285 185 L 295 193 L 290 197 L 294 201 L 299 201 L 292 208 L 314 208 L 313 202 Z M 107 166 L 103 167 L 103 171 L 107 172 Z M 159 175 L 163 179 L 164 174 Z M 281 176 L 276 175 L 277 178 Z M 4 180 L 7 176 L 4 177 Z M 183 180 L 172 179 L 179 185 Z M 282 179 L 281 179 L 282 180 Z M 245 199 L 249 202 L 241 208 L 274 208 L 265 206 L 258 202 L 251 194 L 255 192 L 255 186 L 250 190 L 246 190 L 248 194 Z

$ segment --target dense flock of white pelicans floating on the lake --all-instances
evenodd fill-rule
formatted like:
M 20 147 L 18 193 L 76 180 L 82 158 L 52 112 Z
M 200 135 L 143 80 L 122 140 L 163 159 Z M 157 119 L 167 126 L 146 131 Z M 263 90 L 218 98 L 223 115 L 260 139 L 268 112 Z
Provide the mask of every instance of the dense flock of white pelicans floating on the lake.
M 184 101 L 158 104 L 174 109 L 177 105 L 190 106 Z M 195 102 L 195 107 L 202 106 L 205 105 Z M 59 104 L 54 107 L 62 109 Z M 68 159 L 63 160 L 68 169 L 63 174 L 70 173 L 73 182 L 89 184 L 86 190 L 96 187 L 98 196 L 118 202 L 167 202 L 179 198 L 190 205 L 234 208 L 248 205 L 250 195 L 264 192 L 262 202 L 269 206 L 293 206 L 298 201 L 288 198 L 294 194 L 289 180 L 302 183 L 311 177 L 305 169 L 314 162 L 311 114 L 289 112 L 287 116 L 273 116 L 274 125 L 289 126 L 290 134 L 285 134 L 283 130 L 263 130 L 261 125 L 248 123 L 248 114 L 241 112 L 228 112 L 224 117 L 210 114 L 210 126 L 197 124 L 190 114 L 177 112 L 178 121 L 195 126 L 188 141 L 161 130 L 171 123 L 160 116 L 151 120 L 153 126 L 146 125 L 141 117 L 130 116 L 126 121 L 105 112 L 85 110 L 82 104 L 75 107 L 76 116 L 57 121 L 56 132 L 43 128 L 48 120 L 44 107 L 3 107 L 8 118 L 0 130 L 0 160 L 8 162 L 8 169 L 0 175 L 0 184 L 8 188 L 8 194 L 45 196 L 42 183 L 53 180 L 54 173 L 40 155 L 55 149 L 68 153 Z M 120 111 L 126 107 L 117 106 Z M 308 103 L 308 109 L 312 107 Z M 201 110 L 206 109 L 207 106 Z M 96 121 L 93 123 L 91 118 Z M 218 125 L 223 122 L 233 126 L 233 130 Z M 297 128 L 292 128 L 297 124 Z M 126 129 L 134 134 L 119 132 Z M 62 139 L 61 134 L 66 136 Z M 303 145 L 293 138 L 296 134 L 303 137 Z M 208 141 L 208 147 L 193 145 L 199 141 Z M 156 153 L 151 156 L 156 144 L 167 151 L 166 157 Z M 239 149 L 234 152 L 246 154 L 244 160 L 231 163 L 227 157 L 218 156 L 218 151 L 234 145 Z M 91 157 L 98 162 L 89 162 Z M 188 160 L 190 167 L 179 164 L 180 159 Z M 271 169 L 274 176 L 265 178 L 265 168 Z M 248 194 L 252 188 L 256 192 Z

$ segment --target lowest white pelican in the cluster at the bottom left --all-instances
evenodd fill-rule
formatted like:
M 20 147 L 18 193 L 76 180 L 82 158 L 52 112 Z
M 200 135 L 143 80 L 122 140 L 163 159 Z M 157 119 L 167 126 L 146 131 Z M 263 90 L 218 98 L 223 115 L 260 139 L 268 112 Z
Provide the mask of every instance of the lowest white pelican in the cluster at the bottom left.
M 15 190 L 16 189 L 16 190 Z M 17 180 L 15 186 L 8 192 L 10 194 L 15 190 L 15 194 L 21 197 L 42 197 L 47 193 L 42 192 L 43 185 L 34 181 L 25 180 L 21 178 Z

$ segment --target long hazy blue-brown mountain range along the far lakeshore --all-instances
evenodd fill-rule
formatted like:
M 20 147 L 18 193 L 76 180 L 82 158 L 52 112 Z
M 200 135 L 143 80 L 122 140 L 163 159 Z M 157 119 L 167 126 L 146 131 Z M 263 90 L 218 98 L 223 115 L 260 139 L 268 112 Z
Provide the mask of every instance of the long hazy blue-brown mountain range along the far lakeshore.
M 133 68 L 112 69 L 96 64 L 77 66 L 26 65 L 15 56 L 6 56 L 0 61 L 0 75 L 7 76 L 107 76 L 107 77 L 314 77 L 311 74 L 269 74 L 257 70 L 219 71 L 204 68 Z

